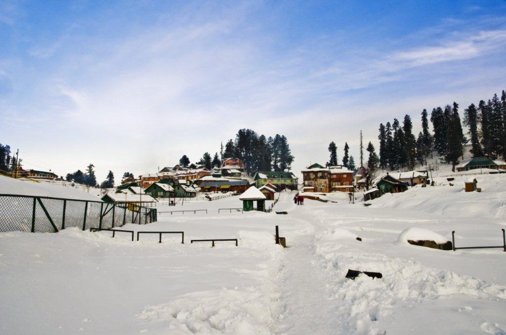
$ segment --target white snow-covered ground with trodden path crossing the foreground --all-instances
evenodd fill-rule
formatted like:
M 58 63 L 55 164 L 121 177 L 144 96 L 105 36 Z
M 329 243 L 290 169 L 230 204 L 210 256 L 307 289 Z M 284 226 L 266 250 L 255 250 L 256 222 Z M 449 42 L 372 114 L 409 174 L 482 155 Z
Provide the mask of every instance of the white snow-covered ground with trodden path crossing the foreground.
M 190 201 L 157 210 L 208 213 L 160 213 L 156 223 L 121 227 L 184 231 L 185 244 L 179 235 L 159 244 L 155 234 L 132 242 L 75 228 L 2 233 L 0 332 L 504 334 L 502 249 L 453 252 L 403 241 L 451 240 L 455 230 L 457 246 L 501 245 L 506 175 L 480 178 L 481 193 L 442 180 L 367 207 L 347 196 L 298 206 L 295 193 L 282 192 L 274 210 L 287 215 L 218 214 L 241 207 L 238 196 Z M 274 244 L 275 225 L 285 249 Z M 405 231 L 411 227 L 421 229 Z M 239 246 L 190 243 L 198 238 L 239 238 Z M 346 279 L 348 269 L 383 278 Z

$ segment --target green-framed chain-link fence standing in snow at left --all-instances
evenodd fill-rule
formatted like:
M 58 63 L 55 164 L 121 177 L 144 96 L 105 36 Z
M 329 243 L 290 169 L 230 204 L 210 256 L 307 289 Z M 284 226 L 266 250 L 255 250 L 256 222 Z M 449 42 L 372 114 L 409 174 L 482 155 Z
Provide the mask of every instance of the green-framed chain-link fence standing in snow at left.
M 68 227 L 109 229 L 156 220 L 156 208 L 133 203 L 0 194 L 0 232 L 57 232 Z

